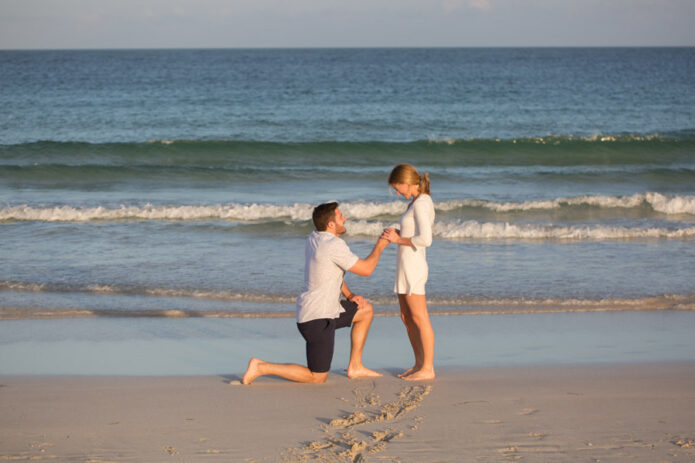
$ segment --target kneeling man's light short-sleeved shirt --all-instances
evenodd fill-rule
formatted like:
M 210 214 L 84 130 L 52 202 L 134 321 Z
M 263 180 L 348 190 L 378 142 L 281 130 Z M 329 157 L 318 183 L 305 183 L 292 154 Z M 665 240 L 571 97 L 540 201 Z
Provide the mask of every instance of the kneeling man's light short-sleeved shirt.
M 357 263 L 347 243 L 328 232 L 314 231 L 306 240 L 304 292 L 297 298 L 297 323 L 338 318 L 345 272 Z

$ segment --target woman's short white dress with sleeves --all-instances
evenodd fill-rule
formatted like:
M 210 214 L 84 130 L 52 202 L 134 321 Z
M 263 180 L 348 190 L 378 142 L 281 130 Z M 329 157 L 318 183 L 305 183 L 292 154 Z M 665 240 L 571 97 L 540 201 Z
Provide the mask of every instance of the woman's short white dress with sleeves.
M 430 195 L 421 194 L 401 216 L 401 237 L 410 238 L 413 246 L 398 246 L 396 293 L 425 294 L 427 247 L 432 244 L 433 226 L 434 203 Z

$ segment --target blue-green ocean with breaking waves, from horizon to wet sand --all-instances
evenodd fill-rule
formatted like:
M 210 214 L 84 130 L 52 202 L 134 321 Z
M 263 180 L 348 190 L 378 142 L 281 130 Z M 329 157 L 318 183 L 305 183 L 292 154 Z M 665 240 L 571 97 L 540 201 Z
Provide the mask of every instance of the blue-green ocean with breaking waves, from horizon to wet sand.
M 693 48 L 0 51 L 0 330 L 290 319 L 313 206 L 364 257 L 402 162 L 433 314 L 693 312 L 694 75 Z M 389 247 L 347 282 L 390 315 L 394 274 Z

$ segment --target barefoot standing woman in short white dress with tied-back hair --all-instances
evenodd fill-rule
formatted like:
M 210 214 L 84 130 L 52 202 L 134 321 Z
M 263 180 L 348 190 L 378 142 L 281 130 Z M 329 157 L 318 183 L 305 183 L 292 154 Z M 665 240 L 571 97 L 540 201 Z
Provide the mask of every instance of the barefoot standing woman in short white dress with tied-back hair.
M 412 199 L 401 216 L 400 231 L 387 228 L 382 235 L 398 245 L 394 291 L 415 355 L 415 365 L 398 376 L 410 381 L 434 379 L 434 331 L 425 300 L 426 250 L 432 244 L 434 225 L 430 179 L 410 164 L 399 164 L 389 175 L 389 185 L 405 199 Z

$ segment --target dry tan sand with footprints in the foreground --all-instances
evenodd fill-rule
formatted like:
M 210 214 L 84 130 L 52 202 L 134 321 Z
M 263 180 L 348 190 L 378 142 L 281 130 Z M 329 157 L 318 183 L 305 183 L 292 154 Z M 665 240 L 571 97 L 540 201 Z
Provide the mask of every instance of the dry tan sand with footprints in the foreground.
M 0 377 L 0 461 L 695 461 L 695 364 L 383 373 Z

